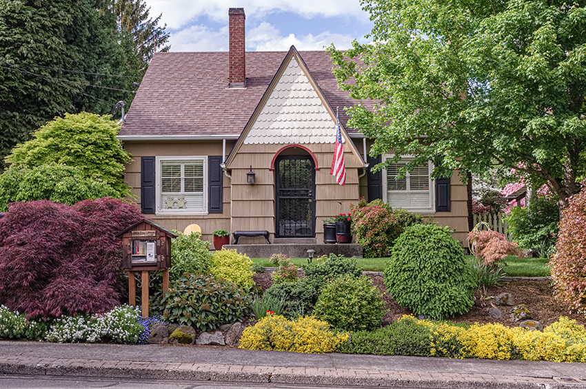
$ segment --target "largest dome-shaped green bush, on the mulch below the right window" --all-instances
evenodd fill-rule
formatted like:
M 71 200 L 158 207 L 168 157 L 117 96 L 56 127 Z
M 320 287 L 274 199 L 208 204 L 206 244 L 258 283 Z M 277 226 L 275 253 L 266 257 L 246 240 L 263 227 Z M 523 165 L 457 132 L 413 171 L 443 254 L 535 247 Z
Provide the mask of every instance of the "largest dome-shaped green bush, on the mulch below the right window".
M 474 305 L 463 249 L 447 227 L 407 227 L 395 241 L 384 280 L 388 293 L 415 315 L 442 319 Z

